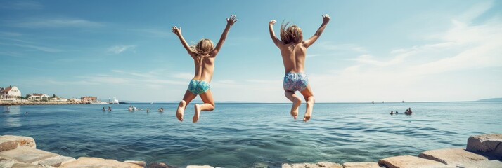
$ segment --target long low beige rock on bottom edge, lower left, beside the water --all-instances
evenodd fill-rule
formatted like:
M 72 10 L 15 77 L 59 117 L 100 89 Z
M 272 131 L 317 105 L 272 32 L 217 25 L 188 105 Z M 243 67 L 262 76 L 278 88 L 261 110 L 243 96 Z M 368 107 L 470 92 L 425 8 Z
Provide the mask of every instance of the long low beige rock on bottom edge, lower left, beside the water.
M 79 159 L 67 162 L 60 166 L 60 168 L 67 167 L 130 167 L 130 168 L 143 168 L 139 165 L 132 163 L 119 162 L 117 160 L 105 160 L 103 158 L 89 158 L 80 157 Z

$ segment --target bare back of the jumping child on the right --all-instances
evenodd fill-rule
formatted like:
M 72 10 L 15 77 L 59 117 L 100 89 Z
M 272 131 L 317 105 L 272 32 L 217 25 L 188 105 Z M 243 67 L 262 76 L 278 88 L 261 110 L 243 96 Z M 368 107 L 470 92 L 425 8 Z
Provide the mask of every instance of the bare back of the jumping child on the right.
M 307 48 L 302 43 L 288 43 L 278 45 L 283 57 L 284 73 L 300 73 L 304 72 L 305 56 Z

